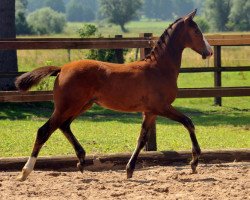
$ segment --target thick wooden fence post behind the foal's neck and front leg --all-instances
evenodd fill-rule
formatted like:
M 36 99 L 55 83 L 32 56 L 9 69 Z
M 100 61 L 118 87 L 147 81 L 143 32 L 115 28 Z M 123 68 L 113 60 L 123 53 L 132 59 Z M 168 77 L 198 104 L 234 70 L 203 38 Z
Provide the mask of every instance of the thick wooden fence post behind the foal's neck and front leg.
M 139 35 L 140 37 L 152 37 L 153 34 L 152 33 L 141 33 Z M 144 59 L 146 57 L 146 55 L 148 55 L 151 51 L 151 48 L 141 48 L 140 49 L 140 58 Z M 144 150 L 145 151 L 156 151 L 157 150 L 157 143 L 156 143 L 156 123 L 154 122 L 154 124 L 149 128 L 149 131 L 147 133 L 148 136 L 148 142 L 145 145 Z

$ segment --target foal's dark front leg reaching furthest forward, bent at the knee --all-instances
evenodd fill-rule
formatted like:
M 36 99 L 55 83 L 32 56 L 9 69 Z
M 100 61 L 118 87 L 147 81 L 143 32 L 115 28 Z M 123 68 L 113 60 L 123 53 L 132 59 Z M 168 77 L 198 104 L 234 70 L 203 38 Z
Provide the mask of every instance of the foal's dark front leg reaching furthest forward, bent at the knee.
M 195 127 L 192 120 L 189 117 L 182 114 L 181 112 L 174 109 L 172 106 L 169 106 L 163 113 L 159 115 L 180 122 L 188 130 L 192 142 L 192 161 L 190 162 L 190 164 L 192 172 L 196 173 L 199 157 L 201 155 L 201 149 L 195 135 Z

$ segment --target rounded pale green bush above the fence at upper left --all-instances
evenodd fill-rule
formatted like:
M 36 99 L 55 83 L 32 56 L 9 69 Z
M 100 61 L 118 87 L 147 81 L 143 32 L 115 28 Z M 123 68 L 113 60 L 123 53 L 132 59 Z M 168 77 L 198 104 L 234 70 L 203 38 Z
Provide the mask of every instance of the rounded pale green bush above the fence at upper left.
M 30 13 L 27 21 L 33 32 L 40 35 L 60 33 L 66 25 L 65 15 L 49 7 Z

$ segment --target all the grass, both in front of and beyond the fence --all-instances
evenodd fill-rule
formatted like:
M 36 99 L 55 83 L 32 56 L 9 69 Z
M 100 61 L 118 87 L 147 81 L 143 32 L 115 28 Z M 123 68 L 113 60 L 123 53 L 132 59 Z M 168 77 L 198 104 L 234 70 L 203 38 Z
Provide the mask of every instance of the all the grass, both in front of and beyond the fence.
M 63 35 L 53 37 L 77 37 L 81 24 L 69 24 Z M 131 22 L 130 33 L 141 32 L 160 35 L 168 23 Z M 104 36 L 121 34 L 118 26 L 99 28 Z M 71 60 L 83 59 L 85 51 L 72 50 Z M 250 47 L 222 49 L 223 66 L 247 66 L 250 63 Z M 134 57 L 134 50 L 126 60 Z M 66 50 L 18 51 L 19 71 L 30 71 L 44 65 L 63 65 L 68 62 Z M 213 67 L 212 59 L 204 61 L 191 50 L 185 50 L 182 67 Z M 52 88 L 53 80 L 46 80 L 39 89 Z M 213 73 L 181 74 L 179 87 L 211 87 Z M 223 86 L 249 86 L 250 72 L 228 72 L 222 76 Z M 202 149 L 250 148 L 250 97 L 223 98 L 223 106 L 213 106 L 212 98 L 177 99 L 174 106 L 190 116 L 196 125 L 197 138 Z M 28 156 L 37 129 L 52 113 L 51 103 L 1 103 L 0 104 L 0 157 Z M 87 153 L 131 152 L 140 131 L 141 115 L 117 113 L 95 106 L 72 124 L 73 132 Z M 157 143 L 159 150 L 189 150 L 191 142 L 182 125 L 158 118 Z M 74 154 L 64 136 L 57 131 L 46 143 L 41 155 Z

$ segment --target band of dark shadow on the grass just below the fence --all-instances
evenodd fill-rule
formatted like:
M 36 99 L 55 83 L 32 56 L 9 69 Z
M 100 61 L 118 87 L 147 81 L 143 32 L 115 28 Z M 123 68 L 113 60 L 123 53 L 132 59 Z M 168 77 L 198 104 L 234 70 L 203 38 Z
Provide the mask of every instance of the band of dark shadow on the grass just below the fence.
M 0 120 L 42 120 L 46 121 L 53 112 L 52 102 L 42 103 L 0 103 Z M 201 126 L 249 126 L 249 117 L 242 115 L 249 112 L 247 109 L 229 108 L 227 112 L 210 111 L 205 112 L 193 108 L 177 107 L 179 111 L 189 116 L 196 125 Z M 117 121 L 120 123 L 141 124 L 141 113 L 121 113 L 107 110 L 94 105 L 86 113 L 80 115 L 77 120 L 106 122 Z M 176 124 L 166 118 L 158 117 L 157 124 Z

